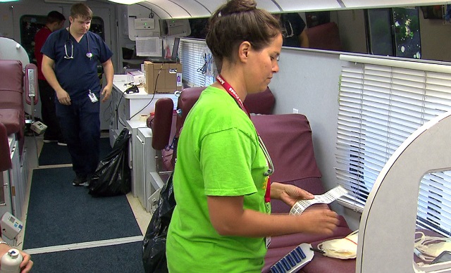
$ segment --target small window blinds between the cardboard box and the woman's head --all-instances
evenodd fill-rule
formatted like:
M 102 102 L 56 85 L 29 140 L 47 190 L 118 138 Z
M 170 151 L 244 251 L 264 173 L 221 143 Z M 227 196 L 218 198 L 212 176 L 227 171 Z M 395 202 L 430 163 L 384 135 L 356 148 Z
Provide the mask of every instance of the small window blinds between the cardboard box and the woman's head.
M 180 41 L 180 63 L 183 83 L 189 87 L 206 87 L 214 82 L 213 59 L 204 41 L 183 39 Z

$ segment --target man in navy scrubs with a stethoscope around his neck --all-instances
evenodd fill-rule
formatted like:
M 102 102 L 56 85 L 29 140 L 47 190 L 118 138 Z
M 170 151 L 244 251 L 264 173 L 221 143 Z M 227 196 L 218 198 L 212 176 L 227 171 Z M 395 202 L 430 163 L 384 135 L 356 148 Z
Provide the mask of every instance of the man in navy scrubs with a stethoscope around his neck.
M 70 8 L 70 26 L 50 34 L 42 46 L 42 72 L 56 91 L 56 115 L 68 144 L 76 174 L 74 186 L 88 186 L 99 164 L 100 96 L 109 99 L 113 88 L 113 53 L 89 32 L 91 9 L 83 3 Z M 106 86 L 101 90 L 97 63 L 101 63 Z

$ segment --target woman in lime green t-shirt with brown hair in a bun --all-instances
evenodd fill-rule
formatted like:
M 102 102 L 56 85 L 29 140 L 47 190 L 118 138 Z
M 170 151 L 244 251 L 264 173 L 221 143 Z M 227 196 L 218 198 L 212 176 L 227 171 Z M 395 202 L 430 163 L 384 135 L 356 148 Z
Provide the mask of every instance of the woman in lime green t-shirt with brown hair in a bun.
M 255 0 L 230 0 L 209 19 L 206 44 L 217 82 L 188 113 L 178 141 L 168 228 L 169 272 L 261 272 L 270 236 L 332 234 L 328 208 L 271 215 L 270 199 L 292 206 L 314 196 L 271 182 L 266 148 L 242 101 L 265 91 L 278 72 L 280 24 Z

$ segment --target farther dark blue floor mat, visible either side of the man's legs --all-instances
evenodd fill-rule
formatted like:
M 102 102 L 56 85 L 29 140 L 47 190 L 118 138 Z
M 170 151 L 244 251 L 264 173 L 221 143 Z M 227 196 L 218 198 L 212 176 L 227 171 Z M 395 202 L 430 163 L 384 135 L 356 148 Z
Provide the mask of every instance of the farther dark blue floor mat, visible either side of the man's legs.
M 110 139 L 100 139 L 100 160 L 111 151 Z M 44 143 L 39 154 L 39 166 L 71 164 L 70 153 L 67 146 L 59 146 L 56 142 Z

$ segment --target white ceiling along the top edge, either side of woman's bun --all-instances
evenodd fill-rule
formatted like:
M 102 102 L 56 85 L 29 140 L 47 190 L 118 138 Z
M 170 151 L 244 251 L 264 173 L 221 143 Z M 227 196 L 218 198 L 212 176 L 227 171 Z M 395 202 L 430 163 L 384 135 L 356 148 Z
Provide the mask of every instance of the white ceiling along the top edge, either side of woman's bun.
M 145 0 L 141 6 L 152 8 L 160 18 L 209 17 L 226 0 Z M 396 3 L 394 3 L 396 2 Z M 424 6 L 446 4 L 437 0 L 257 0 L 257 7 L 267 11 L 325 11 L 350 8 L 380 8 L 389 6 Z

